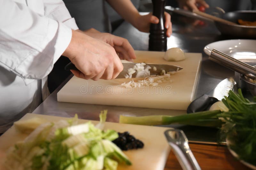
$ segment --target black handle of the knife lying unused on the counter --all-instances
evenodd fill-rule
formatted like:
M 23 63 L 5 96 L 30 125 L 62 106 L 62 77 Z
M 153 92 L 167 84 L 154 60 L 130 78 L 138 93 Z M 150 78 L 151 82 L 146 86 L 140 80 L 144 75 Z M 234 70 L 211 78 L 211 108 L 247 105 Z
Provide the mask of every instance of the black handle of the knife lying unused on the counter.
M 202 95 L 189 104 L 187 113 L 195 113 L 199 111 L 209 110 L 212 104 L 218 101 L 219 100 L 215 97 Z

